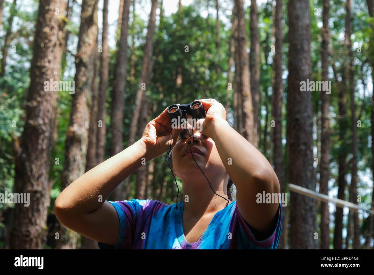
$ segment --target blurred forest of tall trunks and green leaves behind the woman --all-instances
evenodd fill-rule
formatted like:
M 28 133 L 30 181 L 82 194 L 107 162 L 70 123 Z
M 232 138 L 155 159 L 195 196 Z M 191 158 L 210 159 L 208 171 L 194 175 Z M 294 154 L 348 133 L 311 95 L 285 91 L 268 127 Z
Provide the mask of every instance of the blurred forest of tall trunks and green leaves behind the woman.
M 0 204 L 0 248 L 97 248 L 59 224 L 55 199 L 195 98 L 226 107 L 282 193 L 374 210 L 373 30 L 374 0 L 0 0 L 0 193 L 31 200 Z M 301 91 L 307 79 L 331 90 Z M 164 154 L 109 200 L 176 196 Z M 279 249 L 374 248 L 367 211 L 288 198 Z

